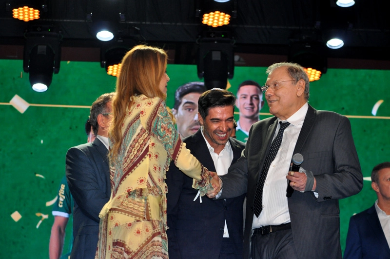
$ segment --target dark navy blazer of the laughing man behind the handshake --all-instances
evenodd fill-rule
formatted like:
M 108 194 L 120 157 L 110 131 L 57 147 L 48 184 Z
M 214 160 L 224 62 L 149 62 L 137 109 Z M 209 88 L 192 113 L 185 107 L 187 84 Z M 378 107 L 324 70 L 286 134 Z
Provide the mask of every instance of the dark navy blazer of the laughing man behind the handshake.
M 206 168 L 215 172 L 213 159 L 200 129 L 183 139 L 186 147 Z M 230 138 L 234 163 L 245 145 Z M 167 172 L 168 253 L 170 259 L 217 259 L 221 249 L 225 219 L 237 259 L 242 258 L 243 201 L 245 195 L 224 200 L 206 196 L 194 201 L 197 190 L 193 179 L 184 175 L 173 163 Z

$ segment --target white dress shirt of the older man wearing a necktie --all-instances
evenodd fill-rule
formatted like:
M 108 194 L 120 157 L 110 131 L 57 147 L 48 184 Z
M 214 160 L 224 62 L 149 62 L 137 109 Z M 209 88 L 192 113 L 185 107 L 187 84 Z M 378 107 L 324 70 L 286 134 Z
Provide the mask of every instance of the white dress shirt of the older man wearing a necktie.
M 308 111 L 309 105 L 305 103 L 289 119 L 290 125 L 284 130 L 282 143 L 275 159 L 270 165 L 267 178 L 263 187 L 263 210 L 259 217 L 254 215 L 252 228 L 259 228 L 268 225 L 280 225 L 291 221 L 289 206 L 287 203 L 287 173 L 290 169 L 292 153 L 295 149 L 296 141 L 301 132 L 303 121 Z M 277 128 L 273 139 L 276 137 L 280 124 L 277 119 Z

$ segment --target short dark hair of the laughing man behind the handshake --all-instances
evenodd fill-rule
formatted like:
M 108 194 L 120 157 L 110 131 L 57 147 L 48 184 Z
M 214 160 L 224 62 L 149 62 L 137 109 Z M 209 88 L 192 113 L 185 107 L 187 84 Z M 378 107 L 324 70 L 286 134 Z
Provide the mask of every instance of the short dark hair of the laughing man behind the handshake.
M 204 92 L 198 100 L 198 111 L 203 120 L 209 115 L 210 108 L 232 106 L 235 104 L 235 96 L 233 93 L 220 89 L 213 88 Z

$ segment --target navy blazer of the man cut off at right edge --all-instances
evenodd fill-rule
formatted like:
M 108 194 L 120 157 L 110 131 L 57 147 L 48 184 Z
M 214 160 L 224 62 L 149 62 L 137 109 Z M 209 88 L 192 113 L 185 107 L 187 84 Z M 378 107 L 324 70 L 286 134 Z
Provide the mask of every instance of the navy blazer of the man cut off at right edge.
M 344 259 L 390 258 L 390 248 L 375 204 L 350 219 Z

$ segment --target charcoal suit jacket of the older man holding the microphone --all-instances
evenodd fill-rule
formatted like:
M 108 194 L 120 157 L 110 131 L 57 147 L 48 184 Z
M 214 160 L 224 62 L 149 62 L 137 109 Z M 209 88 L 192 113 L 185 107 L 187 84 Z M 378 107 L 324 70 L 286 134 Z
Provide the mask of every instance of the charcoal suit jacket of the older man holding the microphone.
M 250 251 L 254 194 L 276 126 L 276 117 L 254 123 L 241 158 L 229 169 L 229 174 L 222 176 L 220 199 L 247 192 L 245 259 L 249 258 Z M 357 194 L 363 187 L 350 121 L 337 113 L 317 111 L 309 105 L 295 153 L 303 155 L 301 167 L 312 171 L 318 192 L 318 198 L 313 192 L 296 191 L 288 198 L 292 237 L 298 257 L 341 258 L 338 200 Z

